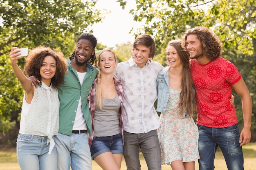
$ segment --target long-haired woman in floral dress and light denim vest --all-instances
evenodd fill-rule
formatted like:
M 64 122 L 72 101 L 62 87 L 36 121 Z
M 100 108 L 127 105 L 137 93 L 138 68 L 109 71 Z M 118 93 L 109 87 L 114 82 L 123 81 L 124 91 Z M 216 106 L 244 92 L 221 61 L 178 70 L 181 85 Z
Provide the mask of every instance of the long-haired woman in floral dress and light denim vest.
M 157 77 L 160 128 L 157 130 L 162 164 L 173 170 L 194 170 L 198 153 L 198 127 L 192 118 L 195 91 L 189 71 L 189 53 L 173 40 L 166 48 L 166 64 Z

